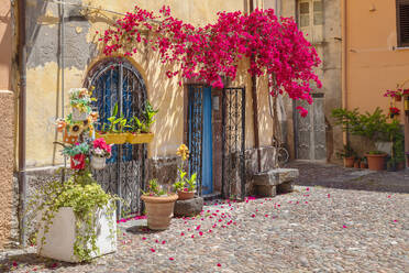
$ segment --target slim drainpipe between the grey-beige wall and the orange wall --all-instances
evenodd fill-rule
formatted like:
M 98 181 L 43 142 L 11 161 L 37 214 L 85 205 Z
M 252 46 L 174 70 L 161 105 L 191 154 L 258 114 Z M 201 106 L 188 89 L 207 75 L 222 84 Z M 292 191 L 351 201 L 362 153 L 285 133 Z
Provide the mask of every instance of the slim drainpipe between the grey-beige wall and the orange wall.
M 342 1 L 342 108 L 347 108 L 347 0 Z M 344 144 L 349 143 L 349 133 L 343 133 Z

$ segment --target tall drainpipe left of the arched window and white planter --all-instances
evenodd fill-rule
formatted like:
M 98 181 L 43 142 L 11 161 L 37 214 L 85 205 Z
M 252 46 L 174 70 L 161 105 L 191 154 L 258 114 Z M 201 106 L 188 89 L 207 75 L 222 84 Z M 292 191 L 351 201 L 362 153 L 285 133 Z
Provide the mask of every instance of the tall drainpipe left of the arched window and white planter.
M 20 197 L 20 243 L 25 247 L 25 108 L 26 108 L 26 48 L 25 48 L 25 0 L 19 0 L 19 197 Z

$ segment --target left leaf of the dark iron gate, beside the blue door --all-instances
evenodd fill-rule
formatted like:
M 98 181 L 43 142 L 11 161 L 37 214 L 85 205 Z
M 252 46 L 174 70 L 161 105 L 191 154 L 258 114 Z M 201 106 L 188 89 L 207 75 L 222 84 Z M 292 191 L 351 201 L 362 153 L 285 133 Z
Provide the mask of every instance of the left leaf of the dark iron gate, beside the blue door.
M 197 173 L 197 193 L 202 192 L 203 88 L 189 85 L 189 173 Z

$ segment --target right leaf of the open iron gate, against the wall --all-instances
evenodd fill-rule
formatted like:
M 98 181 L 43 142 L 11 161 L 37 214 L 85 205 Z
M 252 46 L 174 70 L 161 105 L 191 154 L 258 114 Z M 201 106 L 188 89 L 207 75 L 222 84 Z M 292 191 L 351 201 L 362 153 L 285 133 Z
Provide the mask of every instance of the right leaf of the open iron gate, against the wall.
M 223 89 L 222 196 L 245 195 L 245 88 Z

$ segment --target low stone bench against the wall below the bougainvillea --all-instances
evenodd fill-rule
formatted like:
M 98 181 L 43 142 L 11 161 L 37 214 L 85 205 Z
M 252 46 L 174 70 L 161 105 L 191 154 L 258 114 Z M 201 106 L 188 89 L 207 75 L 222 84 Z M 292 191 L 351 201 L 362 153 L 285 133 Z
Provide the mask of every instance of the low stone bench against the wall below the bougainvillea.
M 299 176 L 297 168 L 275 168 L 253 175 L 255 194 L 274 197 L 278 193 L 292 192 L 292 182 Z

